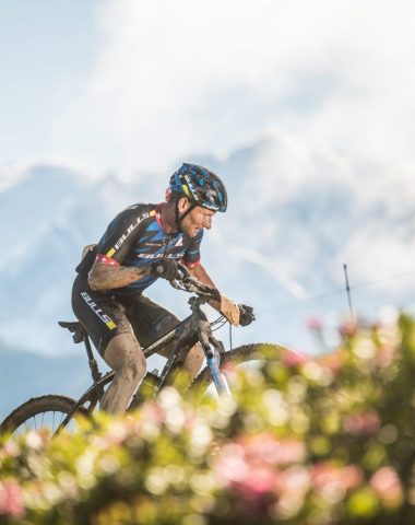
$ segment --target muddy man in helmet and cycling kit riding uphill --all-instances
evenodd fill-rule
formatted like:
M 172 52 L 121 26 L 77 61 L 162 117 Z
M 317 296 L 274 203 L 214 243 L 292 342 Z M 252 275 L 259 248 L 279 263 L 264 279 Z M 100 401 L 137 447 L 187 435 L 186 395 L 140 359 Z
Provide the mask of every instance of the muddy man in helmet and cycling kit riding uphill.
M 72 308 L 116 372 L 102 400 L 107 412 L 127 410 L 146 371 L 142 347 L 180 322 L 142 292 L 157 278 L 178 278 L 179 261 L 190 275 L 214 287 L 200 262 L 200 244 L 215 212 L 225 212 L 226 207 L 226 188 L 218 176 L 185 163 L 171 175 L 164 202 L 130 206 L 110 222 L 97 245 L 84 250 L 76 267 Z M 254 319 L 251 307 L 221 298 L 221 303 L 211 305 L 234 325 L 246 326 Z M 173 345 L 167 345 L 165 357 L 171 350 Z M 183 362 L 191 378 L 203 359 L 198 343 Z

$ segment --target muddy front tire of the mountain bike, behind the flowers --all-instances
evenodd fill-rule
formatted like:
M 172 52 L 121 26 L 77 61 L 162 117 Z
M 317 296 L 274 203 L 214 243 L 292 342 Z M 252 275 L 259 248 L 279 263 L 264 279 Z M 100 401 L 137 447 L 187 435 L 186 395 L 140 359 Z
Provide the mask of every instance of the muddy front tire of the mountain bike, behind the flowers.
M 294 354 L 292 350 L 270 342 L 257 342 L 234 348 L 221 354 L 221 371 L 226 375 L 226 366 L 252 361 L 281 361 L 284 354 Z M 205 390 L 213 383 L 211 371 L 205 366 L 190 385 L 191 389 Z

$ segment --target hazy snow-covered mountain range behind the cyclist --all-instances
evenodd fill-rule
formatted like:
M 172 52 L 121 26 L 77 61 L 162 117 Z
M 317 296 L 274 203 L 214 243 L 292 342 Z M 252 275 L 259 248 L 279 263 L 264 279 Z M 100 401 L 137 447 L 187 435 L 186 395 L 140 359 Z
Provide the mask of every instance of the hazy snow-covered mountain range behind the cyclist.
M 344 262 L 357 312 L 376 318 L 386 305 L 413 304 L 415 190 L 408 174 L 349 165 L 278 132 L 226 158 L 185 160 L 216 170 L 228 188 L 228 212 L 215 217 L 202 259 L 221 290 L 256 308 L 257 323 L 234 330 L 234 345 L 269 340 L 312 351 L 307 319 L 335 325 L 347 315 Z M 0 340 L 20 349 L 0 354 L 4 377 L 9 370 L 29 370 L 33 352 L 44 355 L 36 359 L 49 377 L 47 362 L 80 362 L 80 347 L 57 322 L 73 318 L 71 284 L 82 247 L 98 241 L 124 207 L 163 200 L 168 176 L 91 179 L 58 164 L 26 167 L 12 178 L 0 174 Z M 165 282 L 150 295 L 187 314 L 185 294 Z M 81 368 L 76 374 L 86 381 Z

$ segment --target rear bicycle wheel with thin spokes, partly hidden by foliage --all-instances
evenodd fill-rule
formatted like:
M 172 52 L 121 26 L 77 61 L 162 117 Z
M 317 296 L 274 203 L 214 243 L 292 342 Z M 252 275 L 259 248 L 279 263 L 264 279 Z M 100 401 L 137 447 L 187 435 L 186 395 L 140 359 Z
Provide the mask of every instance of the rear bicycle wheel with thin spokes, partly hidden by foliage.
M 33 397 L 13 410 L 1 423 L 0 433 L 20 434 L 28 430 L 40 430 L 48 428 L 54 434 L 63 419 L 74 411 L 76 401 L 66 396 L 47 395 Z M 87 417 L 87 411 L 80 408 L 76 415 Z M 68 428 L 74 425 L 71 419 Z

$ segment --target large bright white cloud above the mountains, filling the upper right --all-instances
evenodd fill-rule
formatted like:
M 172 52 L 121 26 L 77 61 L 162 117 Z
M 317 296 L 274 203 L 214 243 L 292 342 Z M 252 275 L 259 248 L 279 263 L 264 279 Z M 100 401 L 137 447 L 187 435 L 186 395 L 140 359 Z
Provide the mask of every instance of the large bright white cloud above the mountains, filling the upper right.
M 411 164 L 414 11 L 410 0 L 109 0 L 67 120 L 122 167 L 226 154 L 270 126 L 333 154 Z

